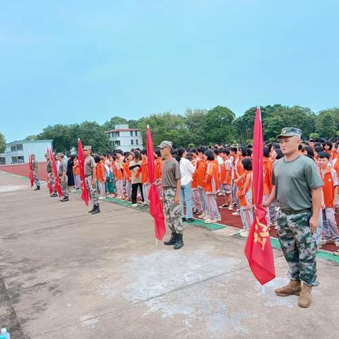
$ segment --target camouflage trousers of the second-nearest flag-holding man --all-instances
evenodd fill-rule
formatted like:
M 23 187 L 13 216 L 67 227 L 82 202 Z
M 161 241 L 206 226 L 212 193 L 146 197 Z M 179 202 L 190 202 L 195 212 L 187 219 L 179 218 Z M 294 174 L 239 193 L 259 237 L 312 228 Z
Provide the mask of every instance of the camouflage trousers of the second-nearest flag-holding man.
M 165 219 L 169 230 L 172 233 L 182 234 L 184 227 L 182 225 L 182 212 L 180 203 L 174 203 L 177 189 L 167 187 L 164 189 L 164 211 Z

